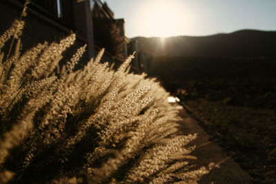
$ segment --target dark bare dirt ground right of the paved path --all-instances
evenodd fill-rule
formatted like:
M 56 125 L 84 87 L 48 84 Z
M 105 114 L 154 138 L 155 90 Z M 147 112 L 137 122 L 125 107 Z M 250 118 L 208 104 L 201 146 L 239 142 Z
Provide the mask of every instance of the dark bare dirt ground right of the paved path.
M 185 101 L 186 111 L 250 176 L 253 183 L 276 183 L 276 112 L 226 105 L 221 101 Z

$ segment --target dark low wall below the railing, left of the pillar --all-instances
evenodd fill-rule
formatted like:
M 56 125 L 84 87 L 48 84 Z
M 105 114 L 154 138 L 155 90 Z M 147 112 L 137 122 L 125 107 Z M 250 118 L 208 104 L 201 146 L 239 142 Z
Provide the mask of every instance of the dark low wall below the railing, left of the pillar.
M 15 19 L 19 19 L 23 6 L 18 1 L 0 1 L 0 33 L 7 30 Z M 64 28 L 55 20 L 49 19 L 39 12 L 28 10 L 26 24 L 23 29 L 22 52 L 32 48 L 37 43 L 59 41 L 70 34 L 70 30 Z M 84 45 L 86 41 L 78 36 L 75 45 L 66 51 L 65 59 L 70 59 L 72 52 Z M 82 62 L 88 61 L 88 53 L 83 56 Z

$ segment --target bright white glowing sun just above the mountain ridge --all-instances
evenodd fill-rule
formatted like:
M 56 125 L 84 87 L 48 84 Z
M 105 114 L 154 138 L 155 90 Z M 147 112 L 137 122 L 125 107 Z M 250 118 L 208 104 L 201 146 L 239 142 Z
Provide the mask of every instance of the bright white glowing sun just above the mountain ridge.
M 183 34 L 187 24 L 184 10 L 173 1 L 152 1 L 139 18 L 140 32 L 150 37 L 171 37 Z

